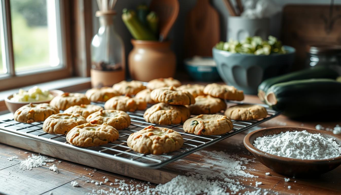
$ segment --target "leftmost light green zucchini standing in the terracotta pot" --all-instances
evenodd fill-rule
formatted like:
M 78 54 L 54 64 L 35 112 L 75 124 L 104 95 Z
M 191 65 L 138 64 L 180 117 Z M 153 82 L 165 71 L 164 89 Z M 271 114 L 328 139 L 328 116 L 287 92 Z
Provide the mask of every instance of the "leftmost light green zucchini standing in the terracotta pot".
M 137 19 L 136 13 L 133 10 L 123 9 L 122 20 L 135 39 L 157 40 L 154 34 Z

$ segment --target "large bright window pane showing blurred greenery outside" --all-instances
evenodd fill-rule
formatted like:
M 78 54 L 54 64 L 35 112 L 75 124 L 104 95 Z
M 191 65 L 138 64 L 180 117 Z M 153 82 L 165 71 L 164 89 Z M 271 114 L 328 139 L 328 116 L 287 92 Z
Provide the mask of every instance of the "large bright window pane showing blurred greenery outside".
M 15 71 L 39 71 L 60 64 L 53 0 L 11 0 Z

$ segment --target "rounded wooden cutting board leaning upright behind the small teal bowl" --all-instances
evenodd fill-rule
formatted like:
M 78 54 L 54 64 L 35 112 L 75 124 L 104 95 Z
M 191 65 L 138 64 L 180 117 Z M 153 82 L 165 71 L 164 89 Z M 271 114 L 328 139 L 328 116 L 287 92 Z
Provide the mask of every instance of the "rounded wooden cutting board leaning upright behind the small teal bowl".
M 209 0 L 198 0 L 185 22 L 185 57 L 212 56 L 212 47 L 220 41 L 218 12 Z

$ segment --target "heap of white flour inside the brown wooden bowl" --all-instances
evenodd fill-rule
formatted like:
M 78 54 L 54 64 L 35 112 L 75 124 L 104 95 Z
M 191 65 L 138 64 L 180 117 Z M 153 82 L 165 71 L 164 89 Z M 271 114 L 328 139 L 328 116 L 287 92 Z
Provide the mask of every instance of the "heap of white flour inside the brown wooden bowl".
M 253 145 L 266 153 L 288 158 L 327 159 L 341 154 L 341 147 L 334 139 L 306 130 L 258 137 Z

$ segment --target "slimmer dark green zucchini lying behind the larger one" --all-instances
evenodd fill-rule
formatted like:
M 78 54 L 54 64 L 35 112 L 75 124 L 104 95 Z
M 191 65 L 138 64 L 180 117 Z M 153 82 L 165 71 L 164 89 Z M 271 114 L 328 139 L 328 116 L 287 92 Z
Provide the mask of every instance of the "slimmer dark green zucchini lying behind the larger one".
M 261 99 L 261 101 L 264 102 L 264 96 L 268 88 L 277 83 L 294 81 L 294 80 L 302 80 L 302 79 L 320 79 L 320 78 L 336 79 L 338 76 L 339 75 L 336 71 L 330 68 L 321 66 L 321 67 L 315 67 L 312 69 L 300 70 L 300 71 L 284 74 L 281 76 L 272 77 L 272 78 L 264 80 L 258 86 L 258 97 Z

